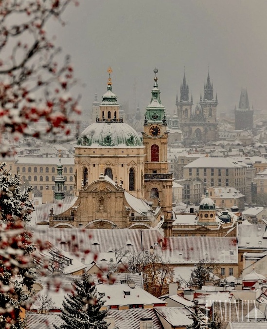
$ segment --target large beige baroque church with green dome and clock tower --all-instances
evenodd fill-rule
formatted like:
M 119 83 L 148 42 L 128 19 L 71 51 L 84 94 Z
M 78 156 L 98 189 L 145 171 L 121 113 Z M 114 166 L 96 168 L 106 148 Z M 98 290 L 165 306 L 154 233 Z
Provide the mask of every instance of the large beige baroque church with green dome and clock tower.
M 160 220 L 166 235 L 172 225 L 172 174 L 168 173 L 165 108 L 155 69 L 152 98 L 142 137 L 120 116 L 110 73 L 96 122 L 75 146 L 75 199 L 53 212 L 50 227 L 153 228 Z M 60 198 L 60 196 L 58 196 Z

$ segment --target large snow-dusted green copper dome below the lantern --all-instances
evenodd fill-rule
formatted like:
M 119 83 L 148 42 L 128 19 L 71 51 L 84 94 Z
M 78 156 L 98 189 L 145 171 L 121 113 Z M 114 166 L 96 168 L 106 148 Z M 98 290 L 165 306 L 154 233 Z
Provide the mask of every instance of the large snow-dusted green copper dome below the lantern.
M 79 136 L 77 146 L 82 147 L 143 147 L 141 137 L 123 122 L 95 122 Z

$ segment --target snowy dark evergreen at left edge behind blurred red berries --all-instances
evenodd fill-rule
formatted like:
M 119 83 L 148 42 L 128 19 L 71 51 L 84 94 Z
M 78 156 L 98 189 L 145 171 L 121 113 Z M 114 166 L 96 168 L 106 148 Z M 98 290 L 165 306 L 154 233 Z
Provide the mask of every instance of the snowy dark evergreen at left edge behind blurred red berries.
M 34 245 L 26 228 L 34 206 L 31 188 L 22 192 L 19 175 L 12 177 L 5 166 L 0 164 L 0 329 L 21 329 L 20 312 L 30 303 L 23 286 L 31 290 L 34 283 Z

